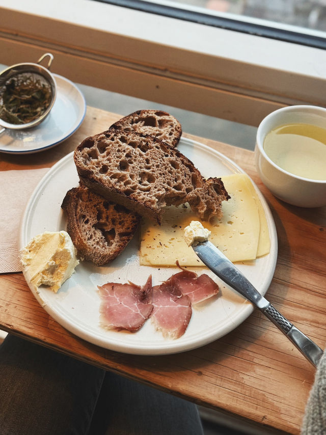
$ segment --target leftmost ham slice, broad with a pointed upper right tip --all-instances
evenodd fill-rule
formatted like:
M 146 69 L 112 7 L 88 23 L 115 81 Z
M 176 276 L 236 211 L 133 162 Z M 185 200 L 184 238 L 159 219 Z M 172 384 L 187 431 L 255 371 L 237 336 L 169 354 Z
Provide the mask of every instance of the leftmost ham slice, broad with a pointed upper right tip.
M 138 331 L 150 316 L 152 277 L 143 287 L 128 283 L 98 286 L 101 297 L 100 323 L 106 329 Z

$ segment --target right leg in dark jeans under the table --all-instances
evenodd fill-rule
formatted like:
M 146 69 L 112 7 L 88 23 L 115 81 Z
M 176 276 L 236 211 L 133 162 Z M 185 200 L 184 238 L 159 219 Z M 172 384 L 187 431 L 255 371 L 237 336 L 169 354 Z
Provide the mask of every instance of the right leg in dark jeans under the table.
M 89 435 L 203 435 L 194 403 L 107 372 Z

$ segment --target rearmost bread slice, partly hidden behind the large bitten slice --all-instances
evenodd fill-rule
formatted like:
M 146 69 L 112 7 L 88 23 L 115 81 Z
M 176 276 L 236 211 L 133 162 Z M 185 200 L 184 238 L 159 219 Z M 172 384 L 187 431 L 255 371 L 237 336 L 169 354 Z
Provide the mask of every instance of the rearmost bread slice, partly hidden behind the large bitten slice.
M 161 110 L 139 110 L 119 119 L 110 128 L 149 134 L 172 146 L 177 146 L 181 134 L 181 124 L 172 115 Z

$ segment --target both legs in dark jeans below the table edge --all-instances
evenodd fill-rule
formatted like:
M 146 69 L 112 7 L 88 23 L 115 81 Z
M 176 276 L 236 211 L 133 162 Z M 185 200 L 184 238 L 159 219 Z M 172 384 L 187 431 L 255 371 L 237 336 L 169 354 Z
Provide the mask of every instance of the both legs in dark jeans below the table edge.
M 195 404 L 8 335 L 1 435 L 202 435 Z

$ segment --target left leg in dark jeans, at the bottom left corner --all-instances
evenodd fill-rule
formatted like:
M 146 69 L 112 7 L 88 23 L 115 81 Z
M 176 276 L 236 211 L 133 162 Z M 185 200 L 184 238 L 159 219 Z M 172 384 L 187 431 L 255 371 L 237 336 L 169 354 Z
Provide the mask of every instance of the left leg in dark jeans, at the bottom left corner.
M 105 371 L 8 335 L 0 346 L 2 435 L 88 433 Z

